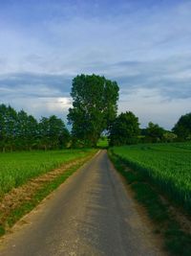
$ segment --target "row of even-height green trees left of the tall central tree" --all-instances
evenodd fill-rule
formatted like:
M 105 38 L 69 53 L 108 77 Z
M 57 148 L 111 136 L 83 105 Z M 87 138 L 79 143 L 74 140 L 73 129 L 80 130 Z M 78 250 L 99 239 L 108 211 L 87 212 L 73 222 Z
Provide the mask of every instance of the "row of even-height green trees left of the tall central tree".
M 60 149 L 69 141 L 70 132 L 55 115 L 38 122 L 24 110 L 0 105 L 0 151 Z

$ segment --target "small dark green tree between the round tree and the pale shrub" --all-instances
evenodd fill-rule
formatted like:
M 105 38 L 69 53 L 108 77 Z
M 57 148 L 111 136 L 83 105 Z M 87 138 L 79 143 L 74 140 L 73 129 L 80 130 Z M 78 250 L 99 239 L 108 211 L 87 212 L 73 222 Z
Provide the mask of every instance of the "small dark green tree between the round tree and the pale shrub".
M 165 130 L 160 128 L 158 124 L 150 122 L 148 127 L 145 129 L 146 140 L 148 142 L 161 142 Z

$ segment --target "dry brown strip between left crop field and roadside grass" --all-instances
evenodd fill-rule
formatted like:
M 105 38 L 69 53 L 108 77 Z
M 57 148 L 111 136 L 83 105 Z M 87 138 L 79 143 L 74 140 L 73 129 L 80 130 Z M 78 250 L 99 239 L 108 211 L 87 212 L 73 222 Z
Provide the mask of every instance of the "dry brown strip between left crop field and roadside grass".
M 26 209 L 23 214 L 19 212 L 22 211 L 22 209 L 20 208 L 23 205 L 27 205 L 28 203 L 30 205 L 30 202 L 32 202 L 32 199 L 38 192 L 42 192 L 43 188 L 45 188 L 49 184 L 52 184 L 53 181 L 56 180 L 59 176 L 64 174 L 66 175 L 66 177 L 72 175 L 72 173 L 74 173 L 74 169 L 77 169 L 78 167 L 83 165 L 90 158 L 92 158 L 94 154 L 95 153 L 90 153 L 86 157 L 73 160 L 69 163 L 65 163 L 59 168 L 48 172 L 45 175 L 40 175 L 32 178 L 26 184 L 18 188 L 14 188 L 11 190 L 11 192 L 5 194 L 4 198 L 0 199 L 0 235 L 3 235 L 6 231 L 8 231 L 14 221 L 18 221 L 19 216 L 16 215 L 20 215 L 20 217 L 22 217 L 25 212 L 30 211 L 30 209 Z M 66 179 L 66 177 L 64 179 Z

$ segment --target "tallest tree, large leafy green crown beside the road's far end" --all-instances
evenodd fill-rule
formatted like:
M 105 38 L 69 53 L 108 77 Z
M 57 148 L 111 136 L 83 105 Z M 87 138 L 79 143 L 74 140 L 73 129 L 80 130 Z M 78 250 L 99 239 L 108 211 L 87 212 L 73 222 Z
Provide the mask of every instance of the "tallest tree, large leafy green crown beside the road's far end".
M 117 82 L 96 75 L 80 75 L 73 80 L 71 96 L 73 108 L 69 109 L 68 120 L 73 125 L 74 141 L 96 146 L 101 132 L 117 116 Z

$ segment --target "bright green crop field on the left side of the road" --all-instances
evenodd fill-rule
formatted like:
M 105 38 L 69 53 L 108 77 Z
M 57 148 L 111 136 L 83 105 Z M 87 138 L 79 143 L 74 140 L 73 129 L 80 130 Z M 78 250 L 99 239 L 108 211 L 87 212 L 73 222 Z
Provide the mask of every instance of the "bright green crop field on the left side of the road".
M 93 150 L 23 151 L 0 153 L 0 197 L 30 178 L 63 163 L 85 157 Z

